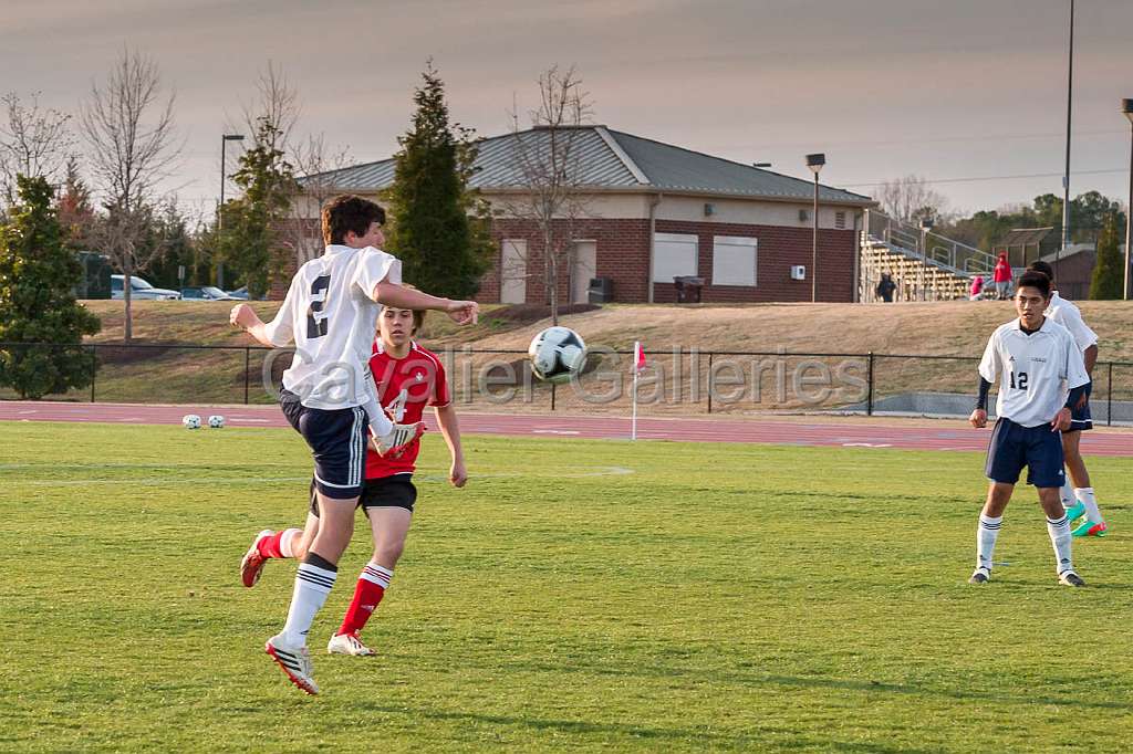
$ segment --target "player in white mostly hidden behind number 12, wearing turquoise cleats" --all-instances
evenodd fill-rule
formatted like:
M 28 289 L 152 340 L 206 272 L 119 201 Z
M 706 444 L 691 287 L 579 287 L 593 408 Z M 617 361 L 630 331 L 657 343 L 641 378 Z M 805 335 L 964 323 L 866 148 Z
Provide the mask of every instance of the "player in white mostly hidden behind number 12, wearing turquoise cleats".
M 1031 264 L 1028 269 L 1040 272 L 1050 279 L 1050 303 L 1047 306 L 1047 317 L 1070 331 L 1074 342 L 1082 349 L 1082 360 L 1085 362 L 1085 374 L 1091 382 L 1085 386 L 1085 395 L 1073 406 L 1070 429 L 1063 432 L 1063 454 L 1066 456 L 1066 481 L 1062 487 L 1062 504 L 1070 516 L 1070 525 L 1074 537 L 1105 537 L 1109 531 L 1106 520 L 1098 509 L 1098 500 L 1090 483 L 1090 472 L 1082 459 L 1082 432 L 1093 429 L 1090 417 L 1090 393 L 1093 387 L 1093 365 L 1098 361 L 1098 335 L 1082 319 L 1082 312 L 1072 302 L 1058 295 L 1055 283 L 1055 271 L 1041 259 Z M 1075 522 L 1085 516 L 1085 521 Z

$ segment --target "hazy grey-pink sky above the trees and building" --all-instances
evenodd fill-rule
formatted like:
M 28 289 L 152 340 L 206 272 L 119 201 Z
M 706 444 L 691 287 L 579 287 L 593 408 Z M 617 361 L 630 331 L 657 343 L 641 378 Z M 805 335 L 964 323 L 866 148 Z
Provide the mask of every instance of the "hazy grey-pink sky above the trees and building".
M 908 173 L 954 208 L 1060 194 L 1070 0 L 0 0 L 0 92 L 68 112 L 123 45 L 177 93 L 182 202 L 211 207 L 220 136 L 269 60 L 297 132 L 390 156 L 432 55 L 484 136 L 573 65 L 595 121 L 863 194 Z M 1133 0 L 1077 0 L 1072 194 L 1127 194 Z M 1109 172 L 1097 172 L 1109 171 Z M 1076 174 L 1075 174 L 1076 173 Z

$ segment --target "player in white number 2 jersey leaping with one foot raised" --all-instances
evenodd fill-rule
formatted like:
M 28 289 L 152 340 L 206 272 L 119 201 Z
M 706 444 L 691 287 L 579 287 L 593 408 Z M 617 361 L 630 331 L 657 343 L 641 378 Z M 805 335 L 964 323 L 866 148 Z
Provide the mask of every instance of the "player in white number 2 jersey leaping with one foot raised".
M 401 263 L 381 251 L 385 212 L 357 196 L 323 207 L 326 251 L 303 265 L 270 323 L 246 303 L 231 322 L 272 348 L 296 343 L 283 372 L 280 408 L 303 435 L 315 461 L 322 525 L 299 564 L 283 631 L 264 650 L 288 678 L 317 694 L 307 632 L 338 577 L 338 562 L 353 533 L 364 487 L 367 426 L 373 447 L 389 454 L 420 436 L 423 425 L 394 425 L 377 403 L 369 358 L 382 305 L 445 311 L 459 324 L 477 319 L 475 301 L 452 301 L 401 285 Z

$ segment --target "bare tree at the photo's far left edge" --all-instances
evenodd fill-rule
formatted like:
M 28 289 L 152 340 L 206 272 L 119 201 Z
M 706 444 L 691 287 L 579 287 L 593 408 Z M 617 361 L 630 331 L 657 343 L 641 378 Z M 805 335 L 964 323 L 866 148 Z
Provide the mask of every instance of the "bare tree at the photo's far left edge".
M 40 106 L 40 92 L 32 93 L 31 104 L 24 104 L 15 92 L 0 97 L 5 121 L 0 121 L 0 199 L 16 203 L 16 175 L 45 178 L 58 183 L 68 160 L 74 155 L 75 136 L 70 115 Z

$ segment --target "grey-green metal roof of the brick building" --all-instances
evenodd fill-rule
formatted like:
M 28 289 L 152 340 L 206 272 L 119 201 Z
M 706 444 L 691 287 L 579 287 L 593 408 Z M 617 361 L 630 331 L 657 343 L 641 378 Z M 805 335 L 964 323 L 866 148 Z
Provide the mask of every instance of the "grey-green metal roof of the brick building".
M 521 189 L 521 155 L 550 152 L 552 131 L 533 128 L 482 139 L 469 181 L 483 191 Z M 605 126 L 560 129 L 555 138 L 571 138 L 580 182 L 603 191 L 693 194 L 774 200 L 813 199 L 813 183 L 761 168 L 615 131 Z M 392 158 L 300 179 L 317 179 L 337 190 L 378 191 L 393 183 Z M 868 196 L 819 186 L 823 203 L 872 206 Z

